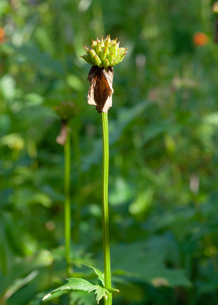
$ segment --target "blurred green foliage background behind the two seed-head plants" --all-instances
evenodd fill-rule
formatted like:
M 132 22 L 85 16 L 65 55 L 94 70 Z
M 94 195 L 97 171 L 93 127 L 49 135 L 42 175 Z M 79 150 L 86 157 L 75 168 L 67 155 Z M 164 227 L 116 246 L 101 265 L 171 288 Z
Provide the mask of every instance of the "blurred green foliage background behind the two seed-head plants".
M 115 304 L 218 304 L 218 46 L 210 0 L 1 0 L 0 304 L 63 284 L 70 122 L 74 276 L 102 267 L 101 118 L 87 105 L 91 38 L 128 47 L 114 67 L 109 205 Z M 199 33 L 200 32 L 200 33 Z M 197 34 L 196 34 L 197 33 Z M 194 37 L 194 40 L 193 40 Z M 47 304 L 95 304 L 74 291 Z

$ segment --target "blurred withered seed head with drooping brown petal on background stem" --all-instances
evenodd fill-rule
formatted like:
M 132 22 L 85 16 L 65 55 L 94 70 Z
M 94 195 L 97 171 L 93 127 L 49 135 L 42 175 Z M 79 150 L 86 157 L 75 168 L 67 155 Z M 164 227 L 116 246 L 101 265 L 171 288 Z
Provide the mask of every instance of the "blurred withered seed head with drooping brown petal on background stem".
M 73 102 L 68 101 L 61 102 L 59 106 L 55 107 L 55 111 L 61 118 L 61 130 L 56 142 L 64 146 L 67 139 L 67 123 L 77 113 L 77 109 Z

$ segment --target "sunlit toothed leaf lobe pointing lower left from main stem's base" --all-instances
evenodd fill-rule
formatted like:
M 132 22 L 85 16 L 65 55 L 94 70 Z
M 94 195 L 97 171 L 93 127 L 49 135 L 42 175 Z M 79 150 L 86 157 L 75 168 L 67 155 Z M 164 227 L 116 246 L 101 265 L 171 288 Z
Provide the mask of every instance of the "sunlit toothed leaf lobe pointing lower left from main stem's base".
M 59 288 L 51 291 L 46 296 L 44 296 L 42 300 L 48 299 L 55 291 L 64 290 L 64 289 L 88 291 L 90 288 L 93 287 L 93 284 L 84 280 L 83 278 L 67 278 L 67 281 L 68 281 L 67 284 L 64 284 L 63 286 L 60 286 Z

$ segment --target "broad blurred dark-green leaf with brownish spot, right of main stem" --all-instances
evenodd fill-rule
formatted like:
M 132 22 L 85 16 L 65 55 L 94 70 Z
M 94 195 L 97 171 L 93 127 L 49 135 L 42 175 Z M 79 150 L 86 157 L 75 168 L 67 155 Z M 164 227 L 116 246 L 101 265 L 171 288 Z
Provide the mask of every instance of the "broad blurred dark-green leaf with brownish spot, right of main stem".
M 147 244 L 143 242 L 111 248 L 112 271 L 122 270 L 128 276 L 140 278 L 156 287 L 191 286 L 183 270 L 167 268 L 163 261 L 164 253 L 147 249 Z

